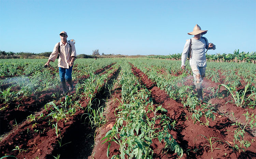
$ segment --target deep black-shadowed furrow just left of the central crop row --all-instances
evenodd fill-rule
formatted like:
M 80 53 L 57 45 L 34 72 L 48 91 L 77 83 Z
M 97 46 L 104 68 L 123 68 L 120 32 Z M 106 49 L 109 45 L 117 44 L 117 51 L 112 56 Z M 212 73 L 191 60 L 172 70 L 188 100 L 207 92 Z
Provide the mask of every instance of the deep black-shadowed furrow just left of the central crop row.
M 107 88 L 107 86 L 113 85 L 113 80 L 116 80 L 117 76 L 119 75 L 120 68 L 114 71 L 113 74 L 109 76 L 108 81 L 104 83 L 102 86 L 102 89 L 96 93 L 96 96 L 94 99 L 94 102 L 92 105 L 94 106 L 94 109 L 97 110 L 99 107 L 103 106 L 105 107 L 105 101 L 108 100 L 110 97 L 110 92 Z M 104 74 L 106 72 L 102 72 Z M 86 113 L 86 112 L 84 112 Z M 81 114 L 82 115 L 82 114 Z M 62 138 L 63 143 L 69 143 L 66 144 L 60 148 L 56 148 L 52 155 L 57 156 L 60 154 L 61 158 L 88 158 L 90 156 L 93 150 L 93 146 L 97 143 L 94 143 L 97 141 L 94 139 L 95 135 L 98 133 L 101 133 L 97 131 L 95 128 L 92 129 L 91 125 L 89 125 L 88 119 L 86 119 L 86 115 L 83 115 L 79 120 L 76 121 L 75 124 L 73 124 L 69 131 L 67 131 L 67 134 Z M 108 120 L 108 119 L 107 119 Z M 101 146 L 101 145 L 100 145 Z M 106 149 L 105 149 L 106 150 Z M 106 151 L 105 151 L 106 154 Z M 48 155 L 47 158 L 51 158 L 52 155 Z M 106 157 L 107 158 L 107 157 Z

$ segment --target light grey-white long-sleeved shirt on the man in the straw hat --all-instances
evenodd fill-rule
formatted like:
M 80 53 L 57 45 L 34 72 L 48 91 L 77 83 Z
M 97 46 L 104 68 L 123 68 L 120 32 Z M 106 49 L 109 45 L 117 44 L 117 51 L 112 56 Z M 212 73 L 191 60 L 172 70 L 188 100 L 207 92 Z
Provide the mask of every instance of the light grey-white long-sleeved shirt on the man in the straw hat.
M 190 66 L 199 66 L 199 67 L 206 67 L 206 58 L 205 58 L 205 48 L 207 49 L 209 46 L 209 42 L 206 39 L 206 41 L 203 38 L 200 38 L 199 40 L 195 38 L 192 39 L 192 57 L 189 60 Z M 183 52 L 181 55 L 181 66 L 185 66 L 185 61 L 188 56 L 189 52 L 189 44 L 190 40 L 186 41 L 186 44 L 183 48 Z M 216 46 L 213 45 L 213 47 L 209 47 L 209 49 L 216 49 Z

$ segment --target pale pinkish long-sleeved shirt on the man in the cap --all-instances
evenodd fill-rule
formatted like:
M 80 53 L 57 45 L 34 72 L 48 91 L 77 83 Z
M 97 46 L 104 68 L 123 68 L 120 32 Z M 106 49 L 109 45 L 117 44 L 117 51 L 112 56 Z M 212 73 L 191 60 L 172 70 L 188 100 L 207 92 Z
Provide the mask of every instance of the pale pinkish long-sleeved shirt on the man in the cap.
M 70 43 L 70 45 L 68 44 Z M 59 53 L 59 44 L 60 44 L 60 53 Z M 72 59 L 72 56 L 76 57 L 75 44 L 72 41 L 67 41 L 64 45 L 61 41 L 60 43 L 55 44 L 53 52 L 49 57 L 49 60 L 55 61 L 59 54 L 58 67 L 69 69 L 69 62 Z

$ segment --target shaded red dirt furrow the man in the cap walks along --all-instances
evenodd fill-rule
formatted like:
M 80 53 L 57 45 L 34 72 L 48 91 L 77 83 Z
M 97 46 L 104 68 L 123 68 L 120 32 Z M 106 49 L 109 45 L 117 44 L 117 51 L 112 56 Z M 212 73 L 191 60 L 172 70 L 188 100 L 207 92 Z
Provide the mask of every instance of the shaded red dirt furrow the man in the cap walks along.
M 102 72 L 109 70 L 115 63 L 112 63 L 102 69 L 95 71 L 95 74 L 101 74 Z M 89 77 L 81 76 L 79 81 L 74 81 L 74 85 L 77 82 L 85 80 Z M 16 90 L 15 90 L 16 91 Z M 74 93 L 73 91 L 72 93 Z M 56 94 L 56 96 L 52 96 Z M 54 89 L 49 89 L 42 92 L 33 93 L 30 97 L 24 98 L 20 97 L 18 100 L 10 101 L 8 104 L 0 104 L 0 107 L 6 107 L 3 111 L 0 111 L 0 135 L 5 134 L 13 129 L 16 124 L 20 124 L 24 121 L 27 116 L 30 114 L 34 114 L 35 112 L 40 112 L 42 107 L 50 101 L 59 99 L 60 95 L 60 87 L 57 86 Z

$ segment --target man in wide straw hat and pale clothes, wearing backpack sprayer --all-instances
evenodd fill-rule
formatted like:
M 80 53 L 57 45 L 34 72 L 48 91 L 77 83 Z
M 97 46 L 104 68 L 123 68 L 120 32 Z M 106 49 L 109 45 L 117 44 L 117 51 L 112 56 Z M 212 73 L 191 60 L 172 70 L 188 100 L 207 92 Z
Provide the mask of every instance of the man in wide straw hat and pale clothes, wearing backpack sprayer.
M 199 25 L 196 25 L 192 32 L 189 32 L 188 35 L 194 35 L 193 38 L 187 40 L 182 56 L 181 56 L 181 68 L 185 69 L 185 61 L 190 55 L 189 64 L 194 76 L 194 84 L 196 85 L 198 99 L 203 100 L 202 93 L 202 83 L 205 76 L 206 70 L 206 58 L 205 58 L 205 48 L 215 50 L 215 45 L 209 43 L 205 37 L 201 35 L 206 34 L 208 30 L 201 30 Z

